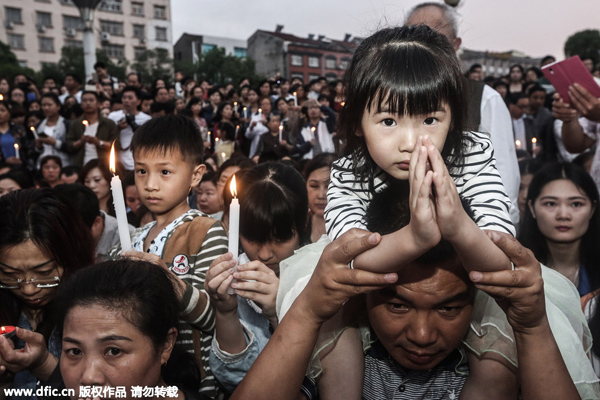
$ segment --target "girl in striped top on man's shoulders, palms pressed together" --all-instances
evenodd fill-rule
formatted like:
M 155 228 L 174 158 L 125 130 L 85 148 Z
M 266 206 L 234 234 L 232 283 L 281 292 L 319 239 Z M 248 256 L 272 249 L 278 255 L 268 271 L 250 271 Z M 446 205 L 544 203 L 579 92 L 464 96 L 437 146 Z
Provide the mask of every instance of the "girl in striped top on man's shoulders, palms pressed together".
M 351 228 L 366 229 L 364 217 L 373 193 L 391 183 L 408 181 L 410 207 L 427 210 L 413 213 L 408 226 L 383 235 L 380 245 L 361 254 L 350 267 L 392 272 L 444 238 L 468 271 L 511 268 L 484 232 L 515 234 L 510 200 L 495 168 L 489 135 L 463 131 L 465 91 L 448 40 L 423 26 L 375 33 L 356 50 L 345 93 L 339 131 L 347 140 L 346 156 L 333 165 L 325 211 L 330 238 Z M 470 205 L 473 219 L 461 200 Z M 488 303 L 496 306 L 492 300 L 478 300 L 473 331 L 465 340 L 472 350 L 468 352 L 471 373 L 461 398 L 514 399 L 518 393 L 516 359 L 510 357 L 514 352 L 505 349 L 512 345 L 510 339 L 503 341 L 510 333 L 483 326 Z M 503 317 L 497 307 L 494 312 Z M 344 331 L 339 343 L 322 358 L 320 385 L 335 386 L 333 397 L 358 399 L 360 381 L 339 383 L 342 373 L 354 377 L 362 371 L 362 352 L 352 353 L 348 343 L 353 341 L 345 335 L 354 333 Z M 498 357 L 498 352 L 510 362 Z M 340 360 L 349 354 L 353 354 L 352 361 L 343 364 L 348 371 L 340 371 Z M 491 382 L 495 389 L 490 394 Z

